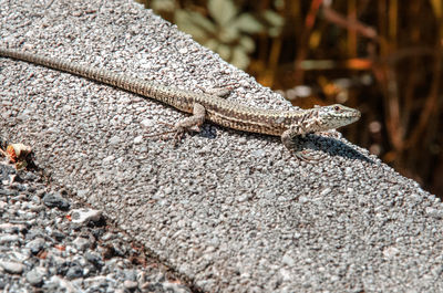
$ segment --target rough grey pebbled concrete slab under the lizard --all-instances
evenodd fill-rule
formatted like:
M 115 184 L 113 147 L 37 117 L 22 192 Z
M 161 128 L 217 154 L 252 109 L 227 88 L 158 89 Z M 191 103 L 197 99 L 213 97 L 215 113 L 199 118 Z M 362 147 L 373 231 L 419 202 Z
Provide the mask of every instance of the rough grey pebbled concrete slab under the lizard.
M 128 1 L 0 0 L 0 45 L 266 108 L 289 104 Z M 339 138 L 298 161 L 278 138 L 205 124 L 177 146 L 143 136 L 185 114 L 0 59 L 0 135 L 207 292 L 441 292 L 439 199 Z M 364 129 L 362 129 L 364 130 Z M 312 138 L 313 139 L 313 138 Z M 315 140 L 315 139 L 313 139 Z

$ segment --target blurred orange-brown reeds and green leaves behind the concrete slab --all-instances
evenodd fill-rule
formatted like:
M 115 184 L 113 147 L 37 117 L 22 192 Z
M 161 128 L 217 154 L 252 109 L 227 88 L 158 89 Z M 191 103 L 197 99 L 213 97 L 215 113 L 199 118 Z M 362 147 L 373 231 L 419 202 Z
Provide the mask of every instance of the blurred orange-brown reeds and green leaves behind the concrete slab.
M 140 0 L 293 105 L 443 197 L 443 0 Z

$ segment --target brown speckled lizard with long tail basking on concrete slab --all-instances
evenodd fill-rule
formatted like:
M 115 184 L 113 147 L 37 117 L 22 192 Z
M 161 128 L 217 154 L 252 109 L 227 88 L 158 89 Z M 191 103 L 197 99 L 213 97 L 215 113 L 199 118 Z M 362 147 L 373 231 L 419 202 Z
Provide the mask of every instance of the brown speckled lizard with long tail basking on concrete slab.
M 315 106 L 309 109 L 278 111 L 247 106 L 227 101 L 216 94 L 197 93 L 156 84 L 126 74 L 91 65 L 72 63 L 62 59 L 47 57 L 25 51 L 0 46 L 0 56 L 25 61 L 61 72 L 79 75 L 153 98 L 192 116 L 178 121 L 172 132 L 181 137 L 185 130 L 199 130 L 205 121 L 248 133 L 279 136 L 284 146 L 298 158 L 307 159 L 300 153 L 298 138 L 307 134 L 327 132 L 358 121 L 358 109 L 333 104 Z

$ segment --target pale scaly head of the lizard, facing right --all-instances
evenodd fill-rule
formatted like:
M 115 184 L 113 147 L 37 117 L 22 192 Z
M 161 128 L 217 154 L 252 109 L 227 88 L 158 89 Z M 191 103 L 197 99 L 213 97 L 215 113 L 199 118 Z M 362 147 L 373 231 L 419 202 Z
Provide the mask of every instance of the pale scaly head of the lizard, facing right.
M 361 113 L 340 104 L 330 106 L 315 106 L 312 108 L 317 119 L 318 132 L 339 128 L 360 119 Z

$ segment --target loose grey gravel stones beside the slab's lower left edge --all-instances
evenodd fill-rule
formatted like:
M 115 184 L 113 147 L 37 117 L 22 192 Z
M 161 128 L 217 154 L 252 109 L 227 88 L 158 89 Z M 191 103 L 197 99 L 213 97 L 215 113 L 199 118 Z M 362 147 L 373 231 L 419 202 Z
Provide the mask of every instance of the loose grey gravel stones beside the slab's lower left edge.
M 74 222 L 79 210 L 97 211 L 65 190 L 52 190 L 38 174 L 6 163 L 0 171 L 1 292 L 153 292 L 154 286 L 155 292 L 192 292 L 103 217 Z M 78 209 L 48 206 L 44 198 Z

